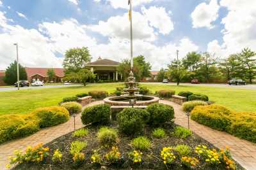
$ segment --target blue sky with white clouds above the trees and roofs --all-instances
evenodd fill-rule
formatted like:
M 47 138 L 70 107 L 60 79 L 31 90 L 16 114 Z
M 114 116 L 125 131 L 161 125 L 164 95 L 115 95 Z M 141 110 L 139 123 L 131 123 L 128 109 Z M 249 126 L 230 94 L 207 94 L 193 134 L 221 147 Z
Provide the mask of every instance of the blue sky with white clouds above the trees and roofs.
M 225 58 L 256 51 L 255 0 L 132 0 L 134 56 L 152 70 L 188 52 Z M 87 46 L 92 60 L 129 59 L 128 0 L 0 0 L 0 70 L 62 67 L 65 51 Z

